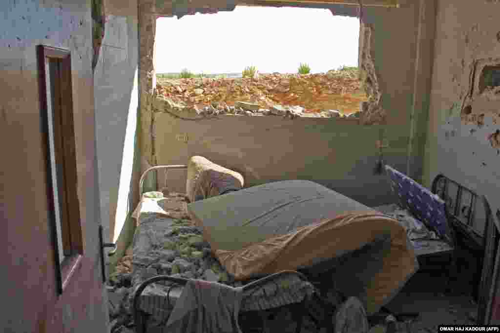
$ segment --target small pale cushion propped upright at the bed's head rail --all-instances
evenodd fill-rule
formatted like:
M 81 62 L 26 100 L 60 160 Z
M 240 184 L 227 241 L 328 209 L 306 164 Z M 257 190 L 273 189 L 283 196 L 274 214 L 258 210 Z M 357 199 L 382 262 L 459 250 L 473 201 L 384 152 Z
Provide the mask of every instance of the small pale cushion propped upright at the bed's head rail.
M 204 157 L 193 156 L 187 163 L 186 191 L 190 202 L 203 200 L 243 187 L 243 176 Z

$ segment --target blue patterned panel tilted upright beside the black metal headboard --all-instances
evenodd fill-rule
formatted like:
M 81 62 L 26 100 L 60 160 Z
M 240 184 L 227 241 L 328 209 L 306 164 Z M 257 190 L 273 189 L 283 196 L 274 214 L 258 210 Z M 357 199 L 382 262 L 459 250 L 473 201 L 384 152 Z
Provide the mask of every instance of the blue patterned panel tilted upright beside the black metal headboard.
M 444 201 L 389 165 L 385 166 L 385 171 L 399 206 L 407 209 L 415 218 L 437 232 L 440 237 L 451 241 Z

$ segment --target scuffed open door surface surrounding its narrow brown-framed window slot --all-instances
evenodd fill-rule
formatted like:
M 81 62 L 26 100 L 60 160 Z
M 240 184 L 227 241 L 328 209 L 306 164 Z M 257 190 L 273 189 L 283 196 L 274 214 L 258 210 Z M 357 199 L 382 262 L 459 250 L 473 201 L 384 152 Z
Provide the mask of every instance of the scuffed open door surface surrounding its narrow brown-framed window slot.
M 0 332 L 104 333 L 90 1 L 0 1 Z M 83 256 L 58 295 L 36 45 L 71 52 Z

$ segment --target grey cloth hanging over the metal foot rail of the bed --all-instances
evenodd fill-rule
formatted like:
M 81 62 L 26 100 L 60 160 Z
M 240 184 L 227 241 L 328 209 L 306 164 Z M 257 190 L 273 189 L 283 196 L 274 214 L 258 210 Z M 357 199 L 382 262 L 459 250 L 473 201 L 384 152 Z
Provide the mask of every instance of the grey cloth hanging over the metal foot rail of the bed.
M 241 333 L 238 313 L 242 288 L 189 280 L 163 332 Z

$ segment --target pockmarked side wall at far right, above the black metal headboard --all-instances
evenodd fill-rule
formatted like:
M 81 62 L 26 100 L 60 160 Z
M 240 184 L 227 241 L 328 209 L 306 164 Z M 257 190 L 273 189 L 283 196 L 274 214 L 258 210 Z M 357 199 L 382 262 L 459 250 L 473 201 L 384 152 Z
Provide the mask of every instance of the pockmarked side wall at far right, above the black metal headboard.
M 485 112 L 483 126 L 478 126 L 479 121 L 462 121 L 460 110 L 468 99 L 473 62 L 500 58 L 499 10 L 500 4 L 492 1 L 438 1 L 428 122 L 432 135 L 428 135 L 424 163 L 426 185 L 443 173 L 486 195 L 493 212 L 500 208 L 500 153 L 491 147 L 487 135 L 500 128 L 500 119 L 485 111 L 498 113 L 500 103 L 474 104 L 471 116 Z M 474 103 L 478 97 L 474 96 Z

